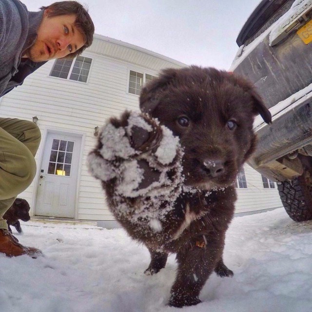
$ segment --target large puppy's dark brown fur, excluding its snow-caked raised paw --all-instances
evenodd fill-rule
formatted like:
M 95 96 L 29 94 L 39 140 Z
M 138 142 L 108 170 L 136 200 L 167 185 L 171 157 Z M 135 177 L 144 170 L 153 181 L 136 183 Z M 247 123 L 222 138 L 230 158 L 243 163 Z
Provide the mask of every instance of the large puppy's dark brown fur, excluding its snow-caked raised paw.
M 254 116 L 260 114 L 270 123 L 271 114 L 246 80 L 195 66 L 164 70 L 143 88 L 140 109 L 179 138 L 184 151 L 184 185 L 192 191 L 186 188 L 181 192 L 174 209 L 166 213 L 155 231 L 148 223 L 145 226 L 142 221 L 138 226 L 130 217 L 121 216 L 113 200 L 114 181 L 102 185 L 116 219 L 150 251 L 146 274 L 157 273 L 165 267 L 168 254 L 176 254 L 178 268 L 169 305 L 195 305 L 200 302 L 198 295 L 212 272 L 221 277 L 233 275 L 223 263 L 222 254 L 225 233 L 234 215 L 235 179 L 255 148 Z M 111 123 L 116 128 L 125 127 L 128 116 L 124 114 Z M 148 135 L 139 133 L 134 137 L 136 147 Z M 92 152 L 96 157 L 101 157 L 100 147 L 101 143 Z M 150 173 L 152 181 L 157 179 L 155 171 Z M 133 209 L 138 208 L 136 199 L 129 202 Z M 165 205 L 166 202 L 161 209 Z

